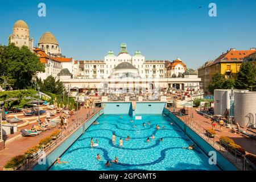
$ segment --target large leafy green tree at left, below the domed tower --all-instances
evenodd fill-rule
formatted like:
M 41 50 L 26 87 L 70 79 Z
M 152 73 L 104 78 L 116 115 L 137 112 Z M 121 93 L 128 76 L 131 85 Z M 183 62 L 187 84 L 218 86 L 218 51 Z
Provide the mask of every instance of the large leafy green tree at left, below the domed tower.
M 44 64 L 26 46 L 0 46 L 0 81 L 7 81 L 14 89 L 25 89 L 32 84 L 37 72 L 44 72 Z

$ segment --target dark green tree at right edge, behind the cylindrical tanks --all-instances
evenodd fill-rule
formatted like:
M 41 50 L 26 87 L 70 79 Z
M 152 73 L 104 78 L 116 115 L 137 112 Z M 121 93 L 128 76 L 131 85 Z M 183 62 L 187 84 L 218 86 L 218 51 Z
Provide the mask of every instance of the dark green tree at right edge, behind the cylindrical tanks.
M 256 88 L 256 69 L 250 63 L 242 63 L 240 71 L 237 73 L 237 89 L 255 89 Z

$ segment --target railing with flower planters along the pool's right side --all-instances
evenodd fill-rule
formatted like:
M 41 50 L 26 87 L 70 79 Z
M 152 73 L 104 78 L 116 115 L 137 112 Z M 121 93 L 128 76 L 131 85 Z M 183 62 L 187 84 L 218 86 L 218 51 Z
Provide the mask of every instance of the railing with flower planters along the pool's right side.
M 170 110 L 177 118 L 185 123 L 190 129 L 195 131 L 201 138 L 207 141 L 212 147 L 219 151 L 226 159 L 228 159 L 237 169 L 241 171 L 248 171 L 253 169 L 250 166 L 250 162 L 245 158 L 240 151 L 229 146 L 228 143 L 221 141 L 220 138 L 214 136 L 213 138 L 207 133 L 207 129 L 199 125 L 196 121 L 191 119 L 190 115 L 184 115 L 180 111 L 175 111 L 175 109 Z

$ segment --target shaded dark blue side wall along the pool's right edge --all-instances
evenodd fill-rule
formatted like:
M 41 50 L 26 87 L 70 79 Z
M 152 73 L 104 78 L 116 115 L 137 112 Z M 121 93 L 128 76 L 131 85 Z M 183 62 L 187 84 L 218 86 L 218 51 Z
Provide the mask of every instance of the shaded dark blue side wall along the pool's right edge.
M 186 135 L 191 138 L 191 140 L 193 140 L 193 142 L 195 142 L 197 146 L 200 146 L 201 150 L 203 150 L 208 157 L 210 151 L 215 151 L 218 167 L 220 167 L 224 171 L 237 171 L 237 168 L 228 159 L 226 159 L 225 156 L 223 156 L 220 152 L 213 148 L 207 141 L 201 138 L 190 127 L 185 125 L 185 123 L 177 118 L 174 114 L 172 114 L 170 110 L 164 108 L 163 113 L 167 114 L 168 117 L 170 117 L 176 123 L 176 125 L 180 127 L 181 130 L 184 131 L 184 127 L 186 127 Z

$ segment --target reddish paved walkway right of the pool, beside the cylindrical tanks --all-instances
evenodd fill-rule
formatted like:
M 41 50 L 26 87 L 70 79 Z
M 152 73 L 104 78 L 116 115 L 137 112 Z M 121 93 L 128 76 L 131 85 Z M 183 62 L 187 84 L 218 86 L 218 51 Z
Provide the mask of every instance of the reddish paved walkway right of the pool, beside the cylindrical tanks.
M 197 108 L 193 108 L 193 121 L 197 122 L 200 126 L 204 127 L 205 129 L 212 129 L 212 126 L 210 125 L 210 123 L 212 123 L 212 121 L 210 121 L 210 118 L 205 118 L 203 117 L 203 115 L 200 115 L 196 112 Z M 188 114 L 191 114 L 191 109 L 188 109 Z M 215 127 L 215 131 L 217 133 L 217 137 L 221 137 L 221 136 L 226 136 L 229 137 L 231 139 L 234 140 L 234 142 L 238 145 L 240 145 L 242 148 L 245 149 L 246 153 L 248 154 L 254 154 L 256 155 L 256 140 L 251 139 L 249 137 L 246 136 L 242 136 L 239 133 L 234 133 L 234 131 L 232 131 L 229 128 L 224 127 L 223 131 L 220 131 L 220 125 L 216 125 Z M 218 141 L 218 139 L 216 138 L 216 141 Z

